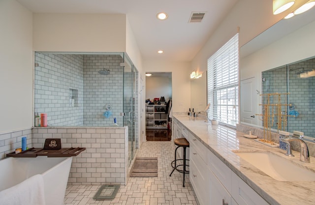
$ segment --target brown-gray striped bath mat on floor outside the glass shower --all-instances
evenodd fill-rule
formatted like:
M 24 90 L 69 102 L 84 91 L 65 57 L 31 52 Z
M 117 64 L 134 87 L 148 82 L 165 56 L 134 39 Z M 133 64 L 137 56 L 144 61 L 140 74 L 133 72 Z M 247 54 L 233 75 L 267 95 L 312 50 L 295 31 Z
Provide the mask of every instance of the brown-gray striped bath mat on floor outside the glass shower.
M 158 158 L 157 157 L 137 157 L 130 171 L 130 177 L 157 177 Z

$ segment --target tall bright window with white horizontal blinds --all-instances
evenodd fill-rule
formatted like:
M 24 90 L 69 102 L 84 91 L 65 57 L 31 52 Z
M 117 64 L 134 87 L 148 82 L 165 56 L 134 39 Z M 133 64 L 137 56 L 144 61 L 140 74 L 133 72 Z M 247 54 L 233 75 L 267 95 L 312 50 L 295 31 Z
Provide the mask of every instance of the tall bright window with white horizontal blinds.
M 208 59 L 209 118 L 238 123 L 238 34 Z

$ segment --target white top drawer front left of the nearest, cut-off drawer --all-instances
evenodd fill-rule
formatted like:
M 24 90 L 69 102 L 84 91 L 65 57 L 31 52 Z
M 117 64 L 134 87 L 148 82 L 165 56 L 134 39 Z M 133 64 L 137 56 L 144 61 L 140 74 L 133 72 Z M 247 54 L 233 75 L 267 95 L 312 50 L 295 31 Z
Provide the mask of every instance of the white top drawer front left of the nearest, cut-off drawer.
M 226 190 L 231 193 L 231 169 L 228 168 L 215 154 L 207 150 L 208 167 L 218 177 Z

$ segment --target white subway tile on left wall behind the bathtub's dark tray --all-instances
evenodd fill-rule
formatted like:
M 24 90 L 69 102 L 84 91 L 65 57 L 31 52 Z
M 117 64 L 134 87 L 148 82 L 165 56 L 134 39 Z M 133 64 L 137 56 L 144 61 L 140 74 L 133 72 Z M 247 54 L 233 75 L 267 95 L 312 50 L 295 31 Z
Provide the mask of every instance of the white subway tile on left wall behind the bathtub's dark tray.
M 14 152 L 16 148 L 22 147 L 22 137 L 27 137 L 27 146 L 32 147 L 32 129 L 16 131 L 0 135 L 0 159 L 6 154 Z

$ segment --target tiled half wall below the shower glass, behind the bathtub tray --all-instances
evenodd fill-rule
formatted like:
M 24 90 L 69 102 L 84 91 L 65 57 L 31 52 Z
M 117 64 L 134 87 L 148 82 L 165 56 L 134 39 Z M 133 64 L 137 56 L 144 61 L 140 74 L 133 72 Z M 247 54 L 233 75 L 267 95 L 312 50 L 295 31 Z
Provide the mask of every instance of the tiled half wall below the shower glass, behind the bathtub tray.
M 68 185 L 121 184 L 127 181 L 127 127 L 38 127 L 32 130 L 33 147 L 46 138 L 61 138 L 62 147 L 85 147 L 73 157 Z

